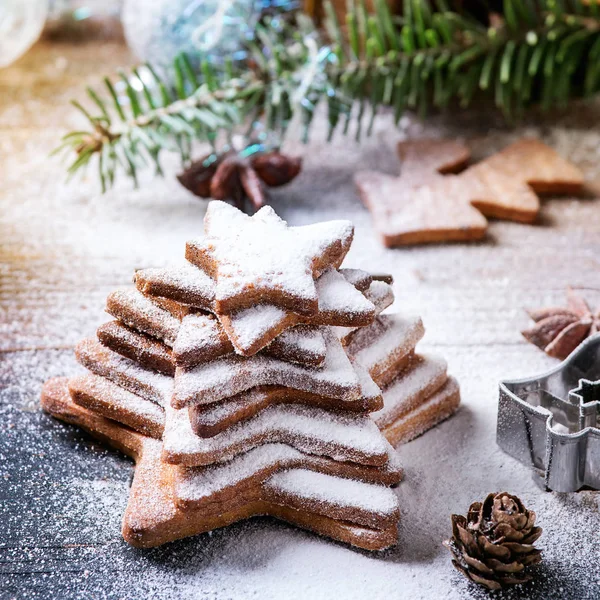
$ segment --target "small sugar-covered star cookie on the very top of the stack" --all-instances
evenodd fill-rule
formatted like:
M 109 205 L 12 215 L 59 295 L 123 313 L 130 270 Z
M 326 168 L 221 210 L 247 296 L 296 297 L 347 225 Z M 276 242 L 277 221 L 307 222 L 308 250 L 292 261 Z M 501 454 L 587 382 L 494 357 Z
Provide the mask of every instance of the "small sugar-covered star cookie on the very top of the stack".
M 216 201 L 208 205 L 204 230 L 203 240 L 187 243 L 186 258 L 216 281 L 219 314 L 265 302 L 315 314 L 315 279 L 340 266 L 354 235 L 350 221 L 288 227 L 270 206 L 249 217 Z

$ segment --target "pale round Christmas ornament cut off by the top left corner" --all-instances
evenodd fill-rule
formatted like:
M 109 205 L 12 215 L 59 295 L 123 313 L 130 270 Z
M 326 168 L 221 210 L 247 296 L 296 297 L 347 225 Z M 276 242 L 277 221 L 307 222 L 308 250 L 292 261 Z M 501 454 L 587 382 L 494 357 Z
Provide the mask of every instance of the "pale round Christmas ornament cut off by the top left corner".
M 48 0 L 3 0 L 0 4 L 0 68 L 25 54 L 40 37 Z

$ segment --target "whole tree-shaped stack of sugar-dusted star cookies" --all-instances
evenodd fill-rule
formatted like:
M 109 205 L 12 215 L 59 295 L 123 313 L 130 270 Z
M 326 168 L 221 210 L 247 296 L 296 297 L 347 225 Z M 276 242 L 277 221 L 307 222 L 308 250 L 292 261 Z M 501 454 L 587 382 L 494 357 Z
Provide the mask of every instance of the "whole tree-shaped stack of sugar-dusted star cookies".
M 438 373 L 408 401 L 394 391 L 428 359 L 418 332 L 378 316 L 390 281 L 340 268 L 352 236 L 346 221 L 288 227 L 268 207 L 212 202 L 184 266 L 109 295 L 114 320 L 76 348 L 88 373 L 48 382 L 42 404 L 135 458 L 128 542 L 272 515 L 369 550 L 396 543 L 401 470 L 369 413 L 435 412 L 447 386 Z

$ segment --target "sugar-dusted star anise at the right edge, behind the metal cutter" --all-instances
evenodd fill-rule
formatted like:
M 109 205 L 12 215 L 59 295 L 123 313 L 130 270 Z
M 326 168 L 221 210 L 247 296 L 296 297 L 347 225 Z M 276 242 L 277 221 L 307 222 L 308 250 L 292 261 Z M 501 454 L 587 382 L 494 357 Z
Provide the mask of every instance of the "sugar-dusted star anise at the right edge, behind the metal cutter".
M 564 360 L 588 336 L 600 331 L 600 308 L 592 312 L 588 303 L 567 288 L 567 306 L 527 311 L 535 321 L 523 337 L 546 354 Z

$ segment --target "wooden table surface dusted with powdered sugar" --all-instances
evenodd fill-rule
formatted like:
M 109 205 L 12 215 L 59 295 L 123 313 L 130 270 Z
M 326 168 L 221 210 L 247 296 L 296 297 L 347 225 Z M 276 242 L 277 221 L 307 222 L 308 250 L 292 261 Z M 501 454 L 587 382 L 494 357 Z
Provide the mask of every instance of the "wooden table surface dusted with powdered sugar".
M 526 344 L 524 307 L 562 303 L 564 288 L 600 302 L 600 201 L 553 198 L 535 226 L 492 223 L 481 243 L 386 250 L 352 186 L 358 168 L 397 171 L 407 135 L 464 138 L 481 157 L 537 135 L 600 178 L 599 104 L 533 116 L 508 129 L 497 117 L 437 116 L 427 124 L 387 116 L 361 145 L 323 142 L 317 121 L 305 168 L 273 195 L 293 224 L 346 217 L 356 224 L 347 264 L 395 276 L 396 307 L 419 313 L 422 349 L 446 357 L 461 383 L 459 413 L 399 449 L 402 523 L 397 549 L 355 552 L 269 519 L 256 519 L 152 551 L 128 547 L 119 520 L 130 462 L 38 408 L 43 381 L 78 370 L 72 348 L 106 320 L 106 294 L 133 269 L 183 254 L 201 232 L 206 203 L 167 178 L 122 181 L 98 193 L 94 173 L 69 185 L 48 158 L 80 124 L 68 106 L 86 84 L 131 62 L 118 43 L 40 43 L 0 71 L 0 597 L 373 598 L 486 597 L 456 575 L 440 542 L 449 515 L 507 489 L 538 513 L 545 562 L 536 582 L 495 598 L 597 598 L 600 498 L 541 491 L 495 443 L 497 383 L 555 364 Z

